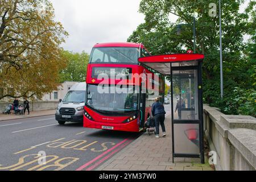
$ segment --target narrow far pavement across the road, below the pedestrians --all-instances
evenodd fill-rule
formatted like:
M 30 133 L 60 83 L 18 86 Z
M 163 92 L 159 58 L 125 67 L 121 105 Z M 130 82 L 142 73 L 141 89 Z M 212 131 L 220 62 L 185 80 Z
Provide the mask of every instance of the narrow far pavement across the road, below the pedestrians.
M 55 114 L 55 110 L 40 110 L 40 111 L 30 111 L 30 115 L 27 115 L 27 111 L 25 115 L 15 115 L 15 114 L 0 114 L 0 122 L 8 121 L 13 119 L 24 119 L 24 118 L 34 118 L 40 117 L 44 115 L 53 115 Z

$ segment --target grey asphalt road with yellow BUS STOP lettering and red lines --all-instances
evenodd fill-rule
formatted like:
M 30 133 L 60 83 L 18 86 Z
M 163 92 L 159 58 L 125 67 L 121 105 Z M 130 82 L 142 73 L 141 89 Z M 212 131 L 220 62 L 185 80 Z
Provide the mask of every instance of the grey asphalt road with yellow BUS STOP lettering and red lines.
M 82 123 L 60 126 L 54 115 L 0 122 L 0 170 L 89 171 L 140 135 L 86 129 Z

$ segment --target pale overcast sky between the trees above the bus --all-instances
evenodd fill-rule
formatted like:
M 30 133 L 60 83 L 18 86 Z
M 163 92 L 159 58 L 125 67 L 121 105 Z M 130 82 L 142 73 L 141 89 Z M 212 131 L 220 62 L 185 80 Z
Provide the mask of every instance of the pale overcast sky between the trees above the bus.
M 68 51 L 90 53 L 96 43 L 126 42 L 137 26 L 144 22 L 144 15 L 138 13 L 141 0 L 51 1 L 55 19 L 69 33 L 62 45 Z M 176 19 L 171 16 L 172 22 Z

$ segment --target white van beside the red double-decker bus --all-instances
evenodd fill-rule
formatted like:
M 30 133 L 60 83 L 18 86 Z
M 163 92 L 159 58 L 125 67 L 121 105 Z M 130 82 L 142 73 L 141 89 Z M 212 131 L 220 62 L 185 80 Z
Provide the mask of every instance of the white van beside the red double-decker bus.
M 63 101 L 57 106 L 55 119 L 60 125 L 65 122 L 83 121 L 86 83 L 80 82 L 72 86 Z

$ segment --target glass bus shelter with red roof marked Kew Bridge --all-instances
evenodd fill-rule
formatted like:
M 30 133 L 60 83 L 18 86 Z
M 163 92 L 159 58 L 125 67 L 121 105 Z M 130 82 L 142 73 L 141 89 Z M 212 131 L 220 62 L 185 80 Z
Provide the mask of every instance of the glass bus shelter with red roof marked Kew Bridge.
M 204 55 L 172 54 L 139 58 L 139 63 L 171 76 L 172 160 L 204 163 L 202 64 Z

